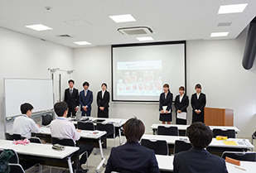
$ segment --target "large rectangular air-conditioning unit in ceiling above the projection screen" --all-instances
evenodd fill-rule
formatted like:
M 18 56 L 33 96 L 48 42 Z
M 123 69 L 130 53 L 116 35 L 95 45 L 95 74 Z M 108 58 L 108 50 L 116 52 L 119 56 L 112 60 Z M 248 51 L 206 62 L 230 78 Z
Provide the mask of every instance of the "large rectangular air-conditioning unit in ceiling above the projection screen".
M 147 26 L 123 27 L 118 28 L 118 31 L 125 36 L 147 35 L 153 33 L 152 29 Z

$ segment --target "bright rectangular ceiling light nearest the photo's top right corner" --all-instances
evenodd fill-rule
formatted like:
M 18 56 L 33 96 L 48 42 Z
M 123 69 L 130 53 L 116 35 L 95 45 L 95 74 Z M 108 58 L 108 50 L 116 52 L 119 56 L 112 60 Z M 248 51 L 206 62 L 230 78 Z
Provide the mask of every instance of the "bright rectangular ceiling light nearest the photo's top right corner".
M 223 6 L 220 6 L 218 14 L 244 12 L 244 9 L 245 7 L 247 7 L 247 5 L 248 3 L 223 5 Z

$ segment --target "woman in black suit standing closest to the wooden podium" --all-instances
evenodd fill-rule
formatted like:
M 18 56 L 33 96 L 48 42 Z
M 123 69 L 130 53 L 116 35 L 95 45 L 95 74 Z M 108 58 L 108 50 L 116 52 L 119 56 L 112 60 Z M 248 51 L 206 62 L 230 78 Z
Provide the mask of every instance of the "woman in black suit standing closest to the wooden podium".
M 191 96 L 191 106 L 193 108 L 193 117 L 192 123 L 194 122 L 205 122 L 205 104 L 206 104 L 206 96 L 201 93 L 200 84 L 196 84 L 196 94 L 192 94 Z

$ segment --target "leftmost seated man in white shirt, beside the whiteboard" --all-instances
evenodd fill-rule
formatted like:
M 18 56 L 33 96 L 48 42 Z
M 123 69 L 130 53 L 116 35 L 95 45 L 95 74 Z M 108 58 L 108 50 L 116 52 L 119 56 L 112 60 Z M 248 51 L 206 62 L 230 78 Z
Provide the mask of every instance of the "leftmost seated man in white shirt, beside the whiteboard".
M 31 119 L 33 106 L 30 103 L 21 105 L 22 115 L 15 118 L 12 124 L 12 132 L 20 134 L 22 137 L 31 137 L 31 132 L 39 133 L 41 128 Z

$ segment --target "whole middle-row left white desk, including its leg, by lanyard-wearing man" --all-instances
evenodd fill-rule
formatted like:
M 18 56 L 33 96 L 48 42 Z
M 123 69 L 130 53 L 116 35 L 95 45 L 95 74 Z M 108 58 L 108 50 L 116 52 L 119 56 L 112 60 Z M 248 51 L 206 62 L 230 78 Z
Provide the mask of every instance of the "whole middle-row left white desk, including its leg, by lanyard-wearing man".
M 51 129 L 50 127 L 41 127 L 41 133 L 43 135 L 51 136 Z M 107 132 L 105 131 L 89 131 L 89 130 L 81 130 L 80 132 L 80 138 L 88 138 L 88 139 L 96 139 L 99 142 L 99 151 L 101 155 L 101 161 L 99 163 L 99 166 L 97 166 L 96 171 L 99 171 L 99 168 L 104 164 L 104 161 L 106 160 L 104 158 L 103 150 L 102 150 L 102 143 L 101 143 L 101 137 L 103 137 Z

